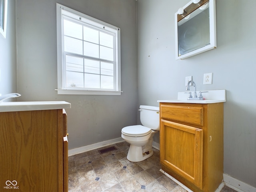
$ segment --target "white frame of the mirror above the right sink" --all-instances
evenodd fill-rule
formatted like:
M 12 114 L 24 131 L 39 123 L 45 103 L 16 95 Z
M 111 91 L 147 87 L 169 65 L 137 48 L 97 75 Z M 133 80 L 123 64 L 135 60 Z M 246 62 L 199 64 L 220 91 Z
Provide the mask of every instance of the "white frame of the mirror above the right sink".
M 193 3 L 193 0 L 191 0 L 190 2 L 188 2 L 188 4 L 186 4 L 185 6 L 183 6 L 182 8 L 185 10 L 186 7 L 188 7 L 190 4 Z M 179 50 L 178 50 L 178 19 L 177 19 L 177 15 L 178 12 L 175 13 L 175 57 L 176 60 L 179 59 L 185 59 L 191 56 L 194 56 L 196 54 L 200 54 L 202 52 L 214 49 L 217 47 L 217 40 L 216 40 L 216 6 L 215 6 L 216 2 L 215 0 L 209 0 L 209 22 L 210 22 L 210 44 L 206 45 L 202 48 L 199 48 L 197 50 L 188 52 L 186 54 L 180 55 L 179 56 Z M 184 19 L 184 18 L 183 18 Z

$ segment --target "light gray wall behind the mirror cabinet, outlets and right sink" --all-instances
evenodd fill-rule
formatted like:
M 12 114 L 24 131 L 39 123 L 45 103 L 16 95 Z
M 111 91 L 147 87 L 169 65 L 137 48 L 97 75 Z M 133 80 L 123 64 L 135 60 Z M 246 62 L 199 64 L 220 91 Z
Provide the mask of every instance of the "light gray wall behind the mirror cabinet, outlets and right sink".
M 138 0 L 138 104 L 175 99 L 190 75 L 198 90 L 226 89 L 224 173 L 256 187 L 256 1 L 216 0 L 217 48 L 176 61 L 174 13 L 188 2 Z

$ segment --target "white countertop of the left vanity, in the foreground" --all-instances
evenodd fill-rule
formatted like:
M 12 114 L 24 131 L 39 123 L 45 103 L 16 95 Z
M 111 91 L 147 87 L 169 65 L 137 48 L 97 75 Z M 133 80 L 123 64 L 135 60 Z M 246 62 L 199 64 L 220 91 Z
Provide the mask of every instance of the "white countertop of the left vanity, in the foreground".
M 0 102 L 0 112 L 52 110 L 71 108 L 66 101 Z

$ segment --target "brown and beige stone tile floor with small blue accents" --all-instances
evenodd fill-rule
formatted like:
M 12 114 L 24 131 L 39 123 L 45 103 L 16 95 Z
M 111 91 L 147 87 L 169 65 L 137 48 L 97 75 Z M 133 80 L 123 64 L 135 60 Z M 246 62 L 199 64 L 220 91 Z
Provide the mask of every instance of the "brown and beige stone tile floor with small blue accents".
M 112 146 L 117 150 L 100 154 L 96 149 L 68 157 L 68 192 L 186 192 L 159 171 L 158 150 L 135 163 L 126 158 L 128 143 Z M 225 186 L 221 192 L 236 191 Z

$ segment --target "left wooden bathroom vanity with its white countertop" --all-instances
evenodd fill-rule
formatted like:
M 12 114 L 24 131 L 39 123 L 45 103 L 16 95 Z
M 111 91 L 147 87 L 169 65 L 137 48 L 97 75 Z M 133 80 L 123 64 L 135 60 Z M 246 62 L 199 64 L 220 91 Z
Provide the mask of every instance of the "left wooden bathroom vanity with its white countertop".
M 0 103 L 0 191 L 67 192 L 68 102 Z

